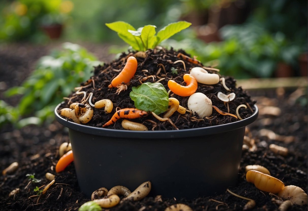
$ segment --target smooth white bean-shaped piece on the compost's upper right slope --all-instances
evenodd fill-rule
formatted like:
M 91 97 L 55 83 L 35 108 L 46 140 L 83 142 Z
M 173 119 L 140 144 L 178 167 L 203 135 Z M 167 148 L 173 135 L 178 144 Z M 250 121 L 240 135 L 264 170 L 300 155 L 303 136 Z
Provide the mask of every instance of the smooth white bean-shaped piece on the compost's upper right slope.
M 190 70 L 189 74 L 191 74 L 196 79 L 197 82 L 202 84 L 212 85 L 212 84 L 217 84 L 219 82 L 218 74 L 208 73 L 208 71 L 206 71 L 202 67 L 193 67 Z

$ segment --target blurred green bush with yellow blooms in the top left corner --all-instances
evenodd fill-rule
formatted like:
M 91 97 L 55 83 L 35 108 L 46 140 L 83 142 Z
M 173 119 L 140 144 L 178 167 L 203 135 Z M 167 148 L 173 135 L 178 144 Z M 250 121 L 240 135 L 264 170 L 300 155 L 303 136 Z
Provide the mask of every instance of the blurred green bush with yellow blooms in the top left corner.
M 2 3 L 1 5 L 4 6 Z M 16 0 L 4 6 L 0 40 L 39 40 L 42 25 L 63 24 L 73 9 L 69 0 Z

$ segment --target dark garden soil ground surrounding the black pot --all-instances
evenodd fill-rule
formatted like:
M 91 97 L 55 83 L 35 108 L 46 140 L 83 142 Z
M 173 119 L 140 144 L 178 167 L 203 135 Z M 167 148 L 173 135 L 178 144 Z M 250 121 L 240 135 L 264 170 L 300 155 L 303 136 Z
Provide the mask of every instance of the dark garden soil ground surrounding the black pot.
M 100 60 L 107 58 L 105 46 L 86 44 L 85 47 L 95 53 Z M 6 99 L 3 91 L 20 85 L 33 69 L 37 59 L 48 54 L 50 48 L 51 46 L 29 44 L 7 45 L 0 48 L 1 99 L 16 105 L 18 99 Z M 252 183 L 246 181 L 245 166 L 263 165 L 269 169 L 272 176 L 282 180 L 285 185 L 296 185 L 307 191 L 308 117 L 305 89 L 257 90 L 249 91 L 249 94 L 257 100 L 260 108 L 258 120 L 248 126 L 257 148 L 253 152 L 243 150 L 237 185 L 229 189 L 238 195 L 255 200 L 256 206 L 252 210 L 277 210 L 278 205 L 271 201 L 274 196 L 256 189 Z M 274 110 L 270 106 L 278 107 L 281 113 L 273 115 Z M 270 113 L 268 109 L 272 109 Z M 262 129 L 272 130 L 280 136 L 266 136 Z M 36 195 L 33 191 L 36 186 L 49 183 L 45 179 L 45 173 L 55 174 L 59 145 L 69 141 L 67 129 L 53 122 L 43 126 L 29 125 L 22 129 L 6 126 L 0 131 L 0 170 L 14 161 L 19 163 L 16 172 L 0 176 L 0 210 L 77 210 L 84 202 L 90 200 L 79 190 L 73 164 L 65 171 L 56 174 L 57 184 L 52 185 L 45 195 L 33 196 Z M 281 156 L 273 153 L 269 149 L 272 143 L 287 147 L 289 154 Z M 26 174 L 33 173 L 41 181 L 29 184 Z M 20 189 L 19 193 L 14 197 L 8 197 L 16 188 Z M 168 199 L 164 196 L 161 199 L 146 197 L 136 202 L 125 201 L 110 210 L 164 210 L 176 203 L 184 203 L 193 210 L 242 210 L 247 202 L 228 192 L 194 200 Z M 289 210 L 307 210 L 307 205 L 293 205 Z

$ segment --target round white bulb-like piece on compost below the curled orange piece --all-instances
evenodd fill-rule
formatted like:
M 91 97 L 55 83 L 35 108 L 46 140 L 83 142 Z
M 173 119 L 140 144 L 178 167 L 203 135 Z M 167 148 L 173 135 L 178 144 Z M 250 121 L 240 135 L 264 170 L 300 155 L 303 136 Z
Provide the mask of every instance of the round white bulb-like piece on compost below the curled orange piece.
M 196 92 L 188 98 L 188 109 L 197 113 L 200 118 L 209 117 L 212 112 L 212 101 L 205 94 Z

